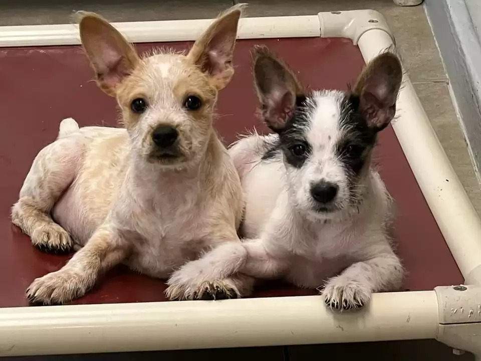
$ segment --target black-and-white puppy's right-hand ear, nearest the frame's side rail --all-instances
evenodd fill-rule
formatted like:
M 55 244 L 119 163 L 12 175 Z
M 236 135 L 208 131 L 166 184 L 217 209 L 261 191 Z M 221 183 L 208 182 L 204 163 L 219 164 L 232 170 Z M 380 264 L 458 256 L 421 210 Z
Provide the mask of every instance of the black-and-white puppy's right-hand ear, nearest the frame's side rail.
M 401 82 L 401 63 L 392 53 L 377 56 L 364 68 L 354 95 L 359 97 L 359 111 L 370 128 L 380 131 L 390 123 L 396 113 Z

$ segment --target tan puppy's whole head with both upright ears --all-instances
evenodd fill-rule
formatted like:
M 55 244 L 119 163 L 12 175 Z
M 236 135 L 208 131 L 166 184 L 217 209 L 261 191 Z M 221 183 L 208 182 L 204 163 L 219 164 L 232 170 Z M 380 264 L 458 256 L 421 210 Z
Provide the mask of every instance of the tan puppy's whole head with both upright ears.
M 187 55 L 154 51 L 143 58 L 103 18 L 82 14 L 82 44 L 99 86 L 117 98 L 133 151 L 149 162 L 200 159 L 212 132 L 217 91 L 233 74 L 244 7 L 234 6 L 215 19 Z M 200 106 L 189 106 L 192 99 Z M 165 134 L 173 140 L 165 143 Z

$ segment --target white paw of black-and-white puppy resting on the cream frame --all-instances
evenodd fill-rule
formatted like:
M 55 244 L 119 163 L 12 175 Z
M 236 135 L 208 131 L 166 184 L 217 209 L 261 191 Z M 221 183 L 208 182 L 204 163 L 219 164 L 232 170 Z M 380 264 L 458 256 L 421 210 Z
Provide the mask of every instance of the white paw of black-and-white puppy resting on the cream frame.
M 326 283 L 321 294 L 328 307 L 342 310 L 363 307 L 370 301 L 372 291 L 369 285 L 339 275 Z

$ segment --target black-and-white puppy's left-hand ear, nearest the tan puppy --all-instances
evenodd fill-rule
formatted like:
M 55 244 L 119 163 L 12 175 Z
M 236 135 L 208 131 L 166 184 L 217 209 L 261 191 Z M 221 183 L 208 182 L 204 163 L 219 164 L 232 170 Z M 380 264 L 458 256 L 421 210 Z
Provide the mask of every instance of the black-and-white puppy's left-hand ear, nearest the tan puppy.
M 292 70 L 266 46 L 256 46 L 252 55 L 262 118 L 273 131 L 282 131 L 294 114 L 296 99 L 303 95 L 302 86 Z

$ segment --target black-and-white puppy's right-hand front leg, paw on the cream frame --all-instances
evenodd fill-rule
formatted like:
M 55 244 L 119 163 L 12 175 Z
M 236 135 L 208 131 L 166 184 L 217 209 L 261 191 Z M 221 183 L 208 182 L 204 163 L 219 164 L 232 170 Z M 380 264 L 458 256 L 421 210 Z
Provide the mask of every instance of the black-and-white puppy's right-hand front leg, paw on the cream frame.
M 335 309 L 359 308 L 367 304 L 373 292 L 399 289 L 403 267 L 399 258 L 386 246 L 374 248 L 372 258 L 356 262 L 326 283 L 322 295 Z

